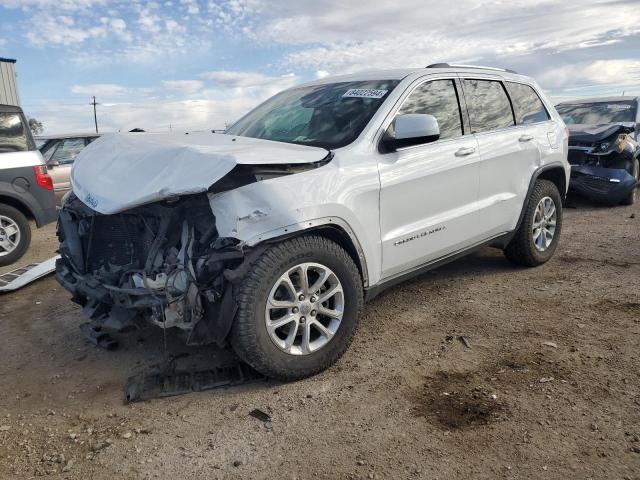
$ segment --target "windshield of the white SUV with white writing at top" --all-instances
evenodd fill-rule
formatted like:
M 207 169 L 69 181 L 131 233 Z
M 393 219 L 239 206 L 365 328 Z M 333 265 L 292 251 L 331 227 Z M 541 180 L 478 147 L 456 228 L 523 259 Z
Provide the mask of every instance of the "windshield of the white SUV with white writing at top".
M 341 82 L 279 93 L 226 133 L 334 149 L 353 142 L 397 80 Z

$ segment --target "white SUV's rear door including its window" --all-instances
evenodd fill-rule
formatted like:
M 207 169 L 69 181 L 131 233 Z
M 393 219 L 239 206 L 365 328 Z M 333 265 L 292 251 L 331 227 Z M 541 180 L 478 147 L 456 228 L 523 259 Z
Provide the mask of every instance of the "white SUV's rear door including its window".
M 531 173 L 540 165 L 541 138 L 534 126 L 516 126 L 501 79 L 463 78 L 462 84 L 481 158 L 478 228 L 491 238 L 515 228 Z

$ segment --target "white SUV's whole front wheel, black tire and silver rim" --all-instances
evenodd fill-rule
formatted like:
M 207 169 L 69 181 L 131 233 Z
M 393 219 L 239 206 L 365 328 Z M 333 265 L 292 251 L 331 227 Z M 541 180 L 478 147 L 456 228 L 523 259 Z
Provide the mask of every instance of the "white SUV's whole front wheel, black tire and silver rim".
M 362 308 L 362 280 L 349 254 L 320 236 L 267 249 L 235 294 L 231 345 L 264 375 L 314 375 L 346 351 Z

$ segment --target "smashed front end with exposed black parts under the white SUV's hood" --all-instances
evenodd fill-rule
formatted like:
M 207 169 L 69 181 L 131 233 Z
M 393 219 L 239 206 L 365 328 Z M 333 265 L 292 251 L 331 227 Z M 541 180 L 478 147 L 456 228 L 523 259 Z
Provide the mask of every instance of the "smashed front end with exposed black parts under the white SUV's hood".
M 57 279 L 94 321 L 177 327 L 189 344 L 226 337 L 236 308 L 228 278 L 245 252 L 219 238 L 206 194 L 112 215 L 71 195 L 58 237 Z

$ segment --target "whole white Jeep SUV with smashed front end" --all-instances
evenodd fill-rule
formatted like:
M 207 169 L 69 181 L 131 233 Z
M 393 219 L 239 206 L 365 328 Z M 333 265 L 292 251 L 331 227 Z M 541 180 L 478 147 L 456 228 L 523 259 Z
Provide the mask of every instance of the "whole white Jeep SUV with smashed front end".
M 564 123 L 515 72 L 325 78 L 225 134 L 93 142 L 60 212 L 57 278 L 95 326 L 151 322 L 302 378 L 402 279 L 482 246 L 549 260 L 569 171 Z

